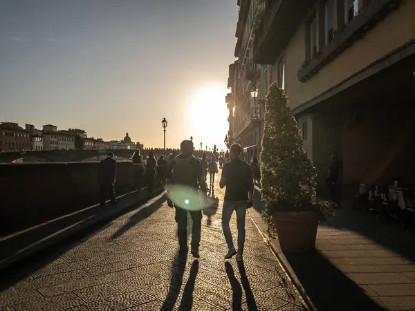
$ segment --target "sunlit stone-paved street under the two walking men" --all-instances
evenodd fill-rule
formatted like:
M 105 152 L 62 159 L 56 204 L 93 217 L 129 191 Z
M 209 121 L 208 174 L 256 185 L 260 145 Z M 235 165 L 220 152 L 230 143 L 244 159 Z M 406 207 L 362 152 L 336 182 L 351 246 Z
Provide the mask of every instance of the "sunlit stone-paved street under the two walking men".
M 160 195 L 2 280 L 0 311 L 305 310 L 248 214 L 244 262 L 223 260 L 219 178 L 219 207 L 203 211 L 199 261 L 178 263 L 174 209 Z M 231 228 L 236 240 L 235 215 Z

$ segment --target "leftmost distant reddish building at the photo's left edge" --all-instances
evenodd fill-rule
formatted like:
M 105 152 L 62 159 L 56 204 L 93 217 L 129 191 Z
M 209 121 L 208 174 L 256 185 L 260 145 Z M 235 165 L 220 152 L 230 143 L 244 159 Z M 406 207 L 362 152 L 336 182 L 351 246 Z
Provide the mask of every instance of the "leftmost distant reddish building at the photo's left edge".
M 13 122 L 0 123 L 0 151 L 31 149 L 30 131 Z

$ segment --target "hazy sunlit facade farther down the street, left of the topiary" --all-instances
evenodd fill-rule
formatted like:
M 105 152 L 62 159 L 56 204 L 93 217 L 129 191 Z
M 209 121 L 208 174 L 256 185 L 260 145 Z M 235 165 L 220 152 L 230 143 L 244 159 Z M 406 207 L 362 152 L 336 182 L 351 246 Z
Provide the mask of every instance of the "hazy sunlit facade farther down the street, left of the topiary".
M 264 99 L 270 85 L 270 65 L 254 59 L 255 36 L 265 9 L 264 1 L 238 1 L 237 61 L 229 66 L 225 102 L 229 109 L 228 145 L 238 142 L 246 161 L 259 157 L 264 129 Z M 228 146 L 229 147 L 229 146 Z

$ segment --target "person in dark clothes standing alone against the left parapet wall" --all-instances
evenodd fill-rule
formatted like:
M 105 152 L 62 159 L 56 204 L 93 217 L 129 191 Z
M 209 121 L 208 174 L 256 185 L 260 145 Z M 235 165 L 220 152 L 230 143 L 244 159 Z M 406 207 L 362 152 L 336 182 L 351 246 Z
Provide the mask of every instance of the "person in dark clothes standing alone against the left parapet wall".
M 109 194 L 111 205 L 116 205 L 116 191 L 114 184 L 116 182 L 117 161 L 113 159 L 114 153 L 109 152 L 107 158 L 100 162 L 98 167 L 98 183 L 100 184 L 100 206 L 105 206 L 105 198 Z

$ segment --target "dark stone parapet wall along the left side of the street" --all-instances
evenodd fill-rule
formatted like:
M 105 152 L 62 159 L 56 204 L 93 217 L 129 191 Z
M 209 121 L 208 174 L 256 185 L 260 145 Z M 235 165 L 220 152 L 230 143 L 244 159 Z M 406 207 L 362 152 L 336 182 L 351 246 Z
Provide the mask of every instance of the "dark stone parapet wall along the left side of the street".
M 0 164 L 0 236 L 98 204 L 98 165 Z M 132 191 L 135 184 L 133 163 L 118 162 L 116 195 Z

